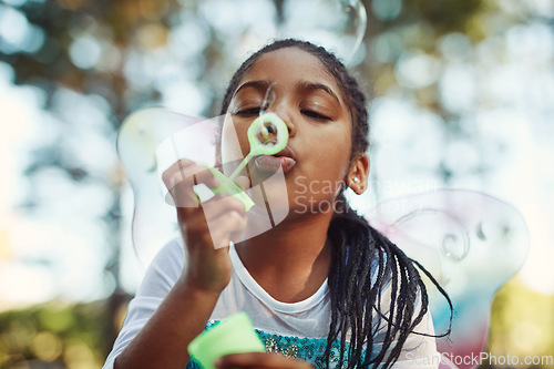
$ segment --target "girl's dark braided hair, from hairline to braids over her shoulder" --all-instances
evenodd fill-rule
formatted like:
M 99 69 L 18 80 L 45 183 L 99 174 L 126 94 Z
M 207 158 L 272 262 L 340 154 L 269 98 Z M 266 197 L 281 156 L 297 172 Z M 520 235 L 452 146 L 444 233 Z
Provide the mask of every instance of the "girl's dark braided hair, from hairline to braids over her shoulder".
M 350 110 L 352 121 L 350 161 L 356 155 L 365 153 L 369 147 L 366 96 L 356 79 L 334 54 L 310 42 L 294 39 L 278 40 L 252 54 L 233 75 L 223 99 L 220 115 L 226 114 L 234 91 L 258 58 L 284 48 L 298 48 L 315 55 L 331 73 Z M 452 304 L 447 293 L 419 263 L 410 259 L 348 205 L 343 192 L 336 199 L 336 205 L 327 232 L 332 244 L 328 276 L 331 321 L 325 359 L 329 366 L 331 345 L 339 340 L 338 360 L 339 362 L 346 360 L 348 368 L 389 368 L 399 358 L 408 336 L 413 332 L 429 309 L 427 288 L 418 268 L 447 298 L 451 310 Z M 389 284 L 390 305 L 386 307 L 388 312 L 383 314 L 381 297 Z M 416 311 L 417 306 L 420 306 L 418 311 Z M 452 316 L 450 320 L 452 321 Z M 382 328 L 383 321 L 384 328 Z M 379 329 L 384 331 L 384 338 L 381 349 L 373 353 L 373 335 L 376 327 L 379 326 L 381 326 Z M 449 334 L 450 328 L 444 335 L 432 337 L 443 337 Z M 348 340 L 350 345 L 347 349 Z

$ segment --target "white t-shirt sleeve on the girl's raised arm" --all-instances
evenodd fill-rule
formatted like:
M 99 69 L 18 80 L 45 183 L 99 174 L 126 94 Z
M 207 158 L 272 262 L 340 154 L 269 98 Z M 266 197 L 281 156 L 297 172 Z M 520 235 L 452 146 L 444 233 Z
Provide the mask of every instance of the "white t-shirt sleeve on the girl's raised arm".
M 152 260 L 135 297 L 129 304 L 123 327 L 103 369 L 113 368 L 115 358 L 148 321 L 181 276 L 184 262 L 184 248 L 178 238 L 165 245 Z

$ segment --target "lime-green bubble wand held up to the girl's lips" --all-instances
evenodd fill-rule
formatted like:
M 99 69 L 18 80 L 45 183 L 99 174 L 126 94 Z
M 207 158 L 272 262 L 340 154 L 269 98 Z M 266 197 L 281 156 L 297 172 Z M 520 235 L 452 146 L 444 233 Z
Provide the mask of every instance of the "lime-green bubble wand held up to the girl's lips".
M 248 212 L 254 206 L 254 202 L 233 180 L 237 177 L 253 157 L 275 155 L 284 150 L 288 142 L 288 127 L 277 114 L 265 113 L 254 120 L 248 127 L 247 134 L 248 142 L 250 143 L 250 152 L 229 177 L 226 177 L 222 172 L 212 166 L 208 166 L 208 170 L 219 181 L 219 186 L 212 189 L 212 192 L 214 194 L 226 193 L 236 197 L 244 204 L 245 209 Z

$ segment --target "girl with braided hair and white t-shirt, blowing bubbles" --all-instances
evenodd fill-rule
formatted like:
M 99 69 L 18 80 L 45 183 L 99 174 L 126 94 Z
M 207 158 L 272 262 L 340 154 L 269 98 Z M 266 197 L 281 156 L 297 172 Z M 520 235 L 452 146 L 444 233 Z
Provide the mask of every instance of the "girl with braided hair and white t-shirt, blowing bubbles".
M 234 131 L 243 156 L 249 152 L 246 131 L 265 110 L 286 123 L 287 147 L 256 161 L 237 182 L 246 188 L 256 173 L 280 165 L 288 215 L 240 240 L 248 225 L 234 197 L 177 207 L 182 239 L 152 263 L 104 368 L 185 367 L 191 340 L 237 311 L 250 316 L 268 352 L 229 355 L 218 368 L 437 368 L 428 295 L 414 262 L 343 197 L 347 187 L 363 193 L 369 172 L 366 100 L 356 80 L 311 43 L 263 48 L 225 94 L 222 163 Z M 183 178 L 183 170 L 195 175 Z M 178 205 L 195 201 L 193 183 L 217 186 L 208 171 L 184 160 L 164 181 Z M 207 222 L 209 206 L 217 212 Z

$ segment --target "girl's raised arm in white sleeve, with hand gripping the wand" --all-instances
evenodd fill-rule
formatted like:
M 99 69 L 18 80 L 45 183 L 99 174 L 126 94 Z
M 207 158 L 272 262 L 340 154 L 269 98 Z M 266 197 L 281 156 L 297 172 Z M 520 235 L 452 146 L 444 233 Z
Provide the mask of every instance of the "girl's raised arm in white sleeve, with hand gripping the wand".
M 246 225 L 244 205 L 230 196 L 216 195 L 198 206 L 193 185 L 217 185 L 204 167 L 182 160 L 164 173 L 164 182 L 177 207 L 186 246 L 183 250 L 186 257 L 182 255 L 182 259 L 186 258 L 187 266 L 183 263 L 181 274 L 175 273 L 172 259 L 162 257 L 145 276 L 145 287 L 135 304 L 130 305 L 126 327 L 109 358 L 110 361 L 115 357 L 116 369 L 186 366 L 188 344 L 204 330 L 222 290 L 230 280 L 228 247 L 216 249 L 213 238 L 226 240 L 228 245 Z M 172 266 L 170 275 L 165 268 Z M 110 368 L 109 362 L 105 368 Z

